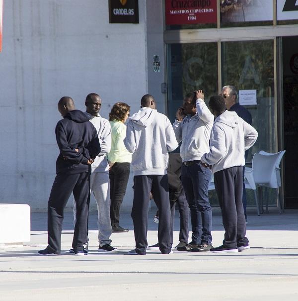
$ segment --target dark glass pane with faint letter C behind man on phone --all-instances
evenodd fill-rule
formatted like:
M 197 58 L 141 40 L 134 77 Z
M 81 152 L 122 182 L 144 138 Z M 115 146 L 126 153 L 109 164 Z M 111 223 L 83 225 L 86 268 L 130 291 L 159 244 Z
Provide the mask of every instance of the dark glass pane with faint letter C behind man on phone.
M 205 100 L 218 94 L 217 43 L 168 45 L 168 117 L 172 122 L 183 97 L 204 91 Z

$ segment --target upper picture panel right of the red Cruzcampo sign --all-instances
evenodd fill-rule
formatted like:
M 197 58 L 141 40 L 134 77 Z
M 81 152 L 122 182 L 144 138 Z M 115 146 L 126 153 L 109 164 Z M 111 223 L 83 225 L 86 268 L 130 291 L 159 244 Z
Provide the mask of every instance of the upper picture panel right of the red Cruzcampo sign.
M 221 27 L 273 25 L 273 0 L 220 0 Z

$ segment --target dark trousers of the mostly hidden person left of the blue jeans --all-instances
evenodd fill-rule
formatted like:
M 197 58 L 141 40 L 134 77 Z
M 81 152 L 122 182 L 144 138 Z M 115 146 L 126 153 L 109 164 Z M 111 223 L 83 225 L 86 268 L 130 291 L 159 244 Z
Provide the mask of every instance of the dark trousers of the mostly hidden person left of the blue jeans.
M 173 234 L 174 234 L 174 220 L 175 220 L 175 208 L 176 204 L 179 210 L 180 216 L 180 231 L 179 231 L 179 241 L 188 243 L 188 228 L 189 228 L 189 207 L 188 202 L 185 197 L 184 190 L 182 189 L 178 200 L 174 203 L 171 203 L 171 243 L 173 243 Z

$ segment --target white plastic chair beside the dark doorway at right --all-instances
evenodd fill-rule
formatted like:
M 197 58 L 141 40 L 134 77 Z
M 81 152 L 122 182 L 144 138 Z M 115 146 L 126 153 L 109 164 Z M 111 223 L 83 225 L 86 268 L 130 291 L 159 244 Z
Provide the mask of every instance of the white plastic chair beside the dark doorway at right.
M 252 168 L 245 168 L 245 178 L 250 186 L 247 188 L 256 190 L 256 187 L 270 187 L 276 189 L 280 214 L 282 213 L 282 204 L 279 198 L 279 187 L 281 186 L 279 164 L 284 154 L 285 151 L 276 154 L 255 153 L 252 159 Z

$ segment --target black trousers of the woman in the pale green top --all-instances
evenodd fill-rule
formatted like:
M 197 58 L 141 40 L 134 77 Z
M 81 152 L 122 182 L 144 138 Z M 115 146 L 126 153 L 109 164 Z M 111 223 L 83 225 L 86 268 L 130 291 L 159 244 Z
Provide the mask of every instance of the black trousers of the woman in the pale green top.
M 110 176 L 110 216 L 112 228 L 119 226 L 120 206 L 125 196 L 130 173 L 130 163 L 116 162 L 109 171 Z

